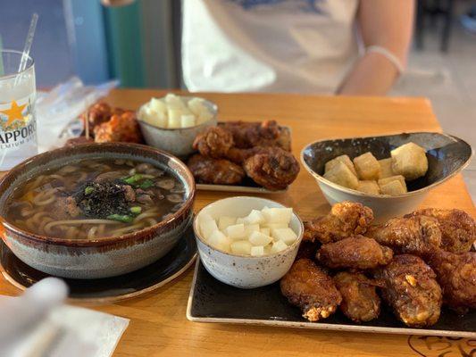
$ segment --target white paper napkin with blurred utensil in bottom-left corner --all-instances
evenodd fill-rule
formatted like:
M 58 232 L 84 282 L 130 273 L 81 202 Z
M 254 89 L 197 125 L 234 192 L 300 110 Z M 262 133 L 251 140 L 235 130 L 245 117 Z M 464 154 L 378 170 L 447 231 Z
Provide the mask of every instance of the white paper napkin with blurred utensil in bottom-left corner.
M 66 295 L 57 278 L 43 279 L 19 297 L 0 295 L 0 356 L 111 356 L 129 320 L 63 305 Z

